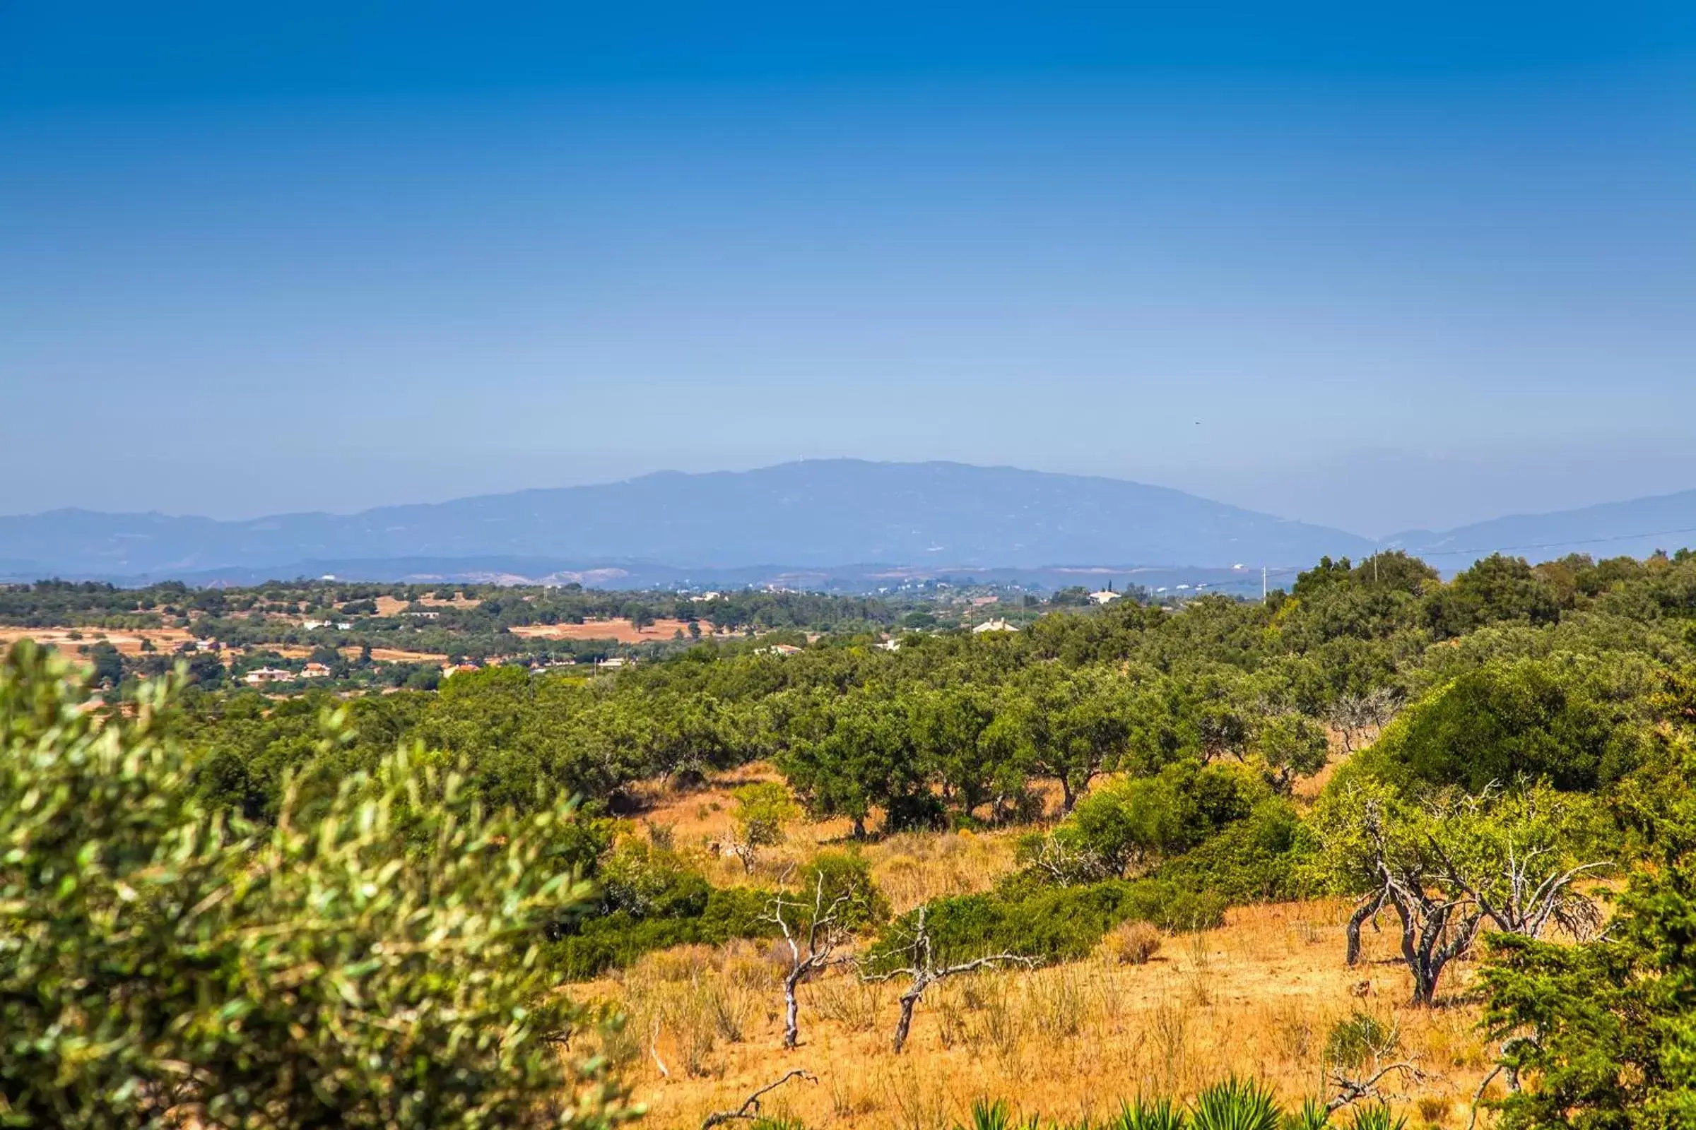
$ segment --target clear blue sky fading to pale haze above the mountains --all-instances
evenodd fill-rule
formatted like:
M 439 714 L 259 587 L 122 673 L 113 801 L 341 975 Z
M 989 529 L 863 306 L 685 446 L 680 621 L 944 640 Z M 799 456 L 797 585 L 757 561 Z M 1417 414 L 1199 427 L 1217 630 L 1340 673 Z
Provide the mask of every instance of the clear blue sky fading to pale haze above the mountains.
M 1693 488 L 1696 5 L 0 2 L 0 449 L 8 513 Z

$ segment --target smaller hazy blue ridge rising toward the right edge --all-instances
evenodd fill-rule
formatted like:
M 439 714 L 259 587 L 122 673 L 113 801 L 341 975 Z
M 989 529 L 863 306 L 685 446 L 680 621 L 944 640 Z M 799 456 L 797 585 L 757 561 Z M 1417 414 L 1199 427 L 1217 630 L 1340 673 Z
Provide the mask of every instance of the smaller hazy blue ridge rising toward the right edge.
M 1552 513 L 1515 513 L 1452 530 L 1406 530 L 1384 539 L 1437 568 L 1462 569 L 1491 552 L 1548 561 L 1569 552 L 1647 557 L 1696 546 L 1696 490 L 1608 501 Z

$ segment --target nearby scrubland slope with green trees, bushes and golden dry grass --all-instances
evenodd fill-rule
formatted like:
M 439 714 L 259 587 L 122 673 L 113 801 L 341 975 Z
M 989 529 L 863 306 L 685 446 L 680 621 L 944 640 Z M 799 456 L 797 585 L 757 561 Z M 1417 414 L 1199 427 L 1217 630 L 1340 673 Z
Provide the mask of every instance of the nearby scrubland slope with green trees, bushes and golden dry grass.
M 1045 612 L 351 700 L 17 645 L 0 1115 L 1696 1125 L 1696 557 Z

